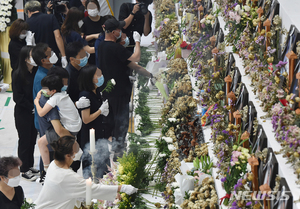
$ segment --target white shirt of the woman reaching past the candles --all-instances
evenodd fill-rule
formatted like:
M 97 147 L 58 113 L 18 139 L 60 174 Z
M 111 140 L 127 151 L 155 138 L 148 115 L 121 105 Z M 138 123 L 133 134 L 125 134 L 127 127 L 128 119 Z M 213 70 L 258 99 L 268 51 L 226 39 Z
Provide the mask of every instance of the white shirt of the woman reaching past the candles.
M 92 184 L 92 199 L 114 201 L 118 185 Z M 50 163 L 44 186 L 35 201 L 35 209 L 74 209 L 77 198 L 85 198 L 86 180 L 71 169 Z

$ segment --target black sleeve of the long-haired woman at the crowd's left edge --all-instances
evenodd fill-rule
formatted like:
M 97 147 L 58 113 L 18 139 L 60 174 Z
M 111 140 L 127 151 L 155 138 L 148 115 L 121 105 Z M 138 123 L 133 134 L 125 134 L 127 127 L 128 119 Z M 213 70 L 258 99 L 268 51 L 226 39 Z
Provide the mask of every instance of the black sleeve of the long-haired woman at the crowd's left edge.
M 26 87 L 23 85 L 23 81 L 19 77 L 20 76 L 18 76 L 16 72 L 13 74 L 13 100 L 19 106 L 25 108 L 28 111 L 32 111 L 34 108 L 32 98 L 27 98 L 25 96 L 24 88 Z

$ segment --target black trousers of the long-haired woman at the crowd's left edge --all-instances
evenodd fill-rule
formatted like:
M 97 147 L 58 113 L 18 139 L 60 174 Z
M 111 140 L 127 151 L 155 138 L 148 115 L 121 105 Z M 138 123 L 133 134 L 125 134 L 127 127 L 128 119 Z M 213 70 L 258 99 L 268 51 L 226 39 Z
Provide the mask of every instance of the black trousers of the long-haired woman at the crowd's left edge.
M 34 114 L 15 106 L 15 126 L 19 135 L 18 156 L 22 161 L 21 172 L 27 172 L 34 165 L 34 146 L 37 130 L 34 127 Z

